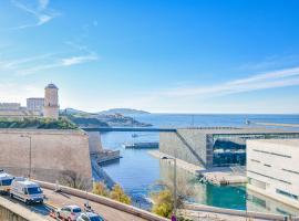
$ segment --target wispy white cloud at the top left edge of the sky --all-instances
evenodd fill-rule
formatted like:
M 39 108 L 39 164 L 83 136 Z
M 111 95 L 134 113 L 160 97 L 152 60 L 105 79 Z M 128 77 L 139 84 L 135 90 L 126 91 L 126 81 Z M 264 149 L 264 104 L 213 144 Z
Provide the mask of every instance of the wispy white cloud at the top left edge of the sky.
M 48 10 L 49 0 L 39 0 L 38 6 L 35 7 L 21 3 L 20 1 L 17 1 L 17 0 L 11 0 L 11 2 L 14 7 L 33 15 L 37 20 L 34 23 L 27 23 L 19 27 L 14 27 L 12 29 L 25 29 L 25 28 L 31 28 L 31 27 L 40 27 L 42 24 L 48 23 L 49 21 L 51 21 L 52 19 L 54 19 L 55 17 L 60 14 L 58 12 Z

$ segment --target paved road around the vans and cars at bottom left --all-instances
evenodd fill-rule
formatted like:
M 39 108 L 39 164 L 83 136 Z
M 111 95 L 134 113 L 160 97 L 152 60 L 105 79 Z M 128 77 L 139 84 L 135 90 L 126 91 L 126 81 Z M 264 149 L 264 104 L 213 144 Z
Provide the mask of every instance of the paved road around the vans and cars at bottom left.
M 27 206 L 23 202 L 20 202 L 16 199 L 10 199 L 9 196 L 1 196 L 4 197 L 6 199 L 9 199 L 12 202 L 19 203 L 23 207 L 25 207 L 28 210 L 35 212 L 40 215 L 42 215 L 43 218 L 45 218 L 49 221 L 53 221 L 54 219 L 50 217 L 50 211 L 51 211 L 51 207 L 62 207 L 62 206 L 66 206 L 66 204 L 78 204 L 81 208 L 83 208 L 84 203 L 86 202 L 84 199 L 78 198 L 78 197 L 73 197 L 70 194 L 65 194 L 65 193 L 58 193 L 54 192 L 52 190 L 48 190 L 44 189 L 44 194 L 47 196 L 47 199 L 44 200 L 44 204 L 31 204 L 31 206 Z M 103 206 L 100 203 L 95 203 L 90 201 L 90 206 L 92 207 L 92 209 L 100 213 L 101 215 L 104 217 L 104 219 L 106 221 L 146 221 L 145 219 L 135 217 L 133 214 L 113 209 L 111 207 L 107 206 Z

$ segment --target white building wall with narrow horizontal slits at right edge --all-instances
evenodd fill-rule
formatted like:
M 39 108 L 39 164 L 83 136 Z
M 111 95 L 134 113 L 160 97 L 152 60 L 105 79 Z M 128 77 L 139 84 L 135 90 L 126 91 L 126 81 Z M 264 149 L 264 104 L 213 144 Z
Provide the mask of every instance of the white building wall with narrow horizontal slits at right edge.
M 298 146 L 299 139 L 247 140 L 248 188 L 299 209 Z

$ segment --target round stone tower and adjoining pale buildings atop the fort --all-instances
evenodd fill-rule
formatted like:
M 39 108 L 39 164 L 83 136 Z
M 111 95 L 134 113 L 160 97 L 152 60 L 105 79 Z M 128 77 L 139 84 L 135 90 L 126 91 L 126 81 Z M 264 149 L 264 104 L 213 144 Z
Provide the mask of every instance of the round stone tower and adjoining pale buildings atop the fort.
M 47 117 L 59 118 L 59 88 L 54 84 L 49 84 L 44 88 L 43 97 L 30 97 L 27 106 L 20 103 L 0 103 L 0 117 L 4 118 L 25 118 L 25 117 Z

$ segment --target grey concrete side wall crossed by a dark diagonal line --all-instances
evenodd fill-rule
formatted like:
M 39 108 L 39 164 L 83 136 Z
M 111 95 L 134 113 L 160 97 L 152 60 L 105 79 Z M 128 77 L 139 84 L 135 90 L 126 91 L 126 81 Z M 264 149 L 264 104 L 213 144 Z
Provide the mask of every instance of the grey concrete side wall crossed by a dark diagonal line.
M 177 129 L 177 133 L 159 133 L 159 151 L 194 164 L 206 166 L 206 135 L 198 129 Z

